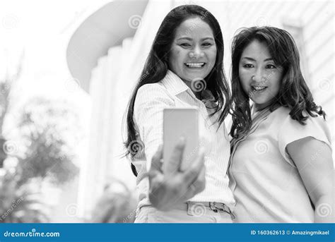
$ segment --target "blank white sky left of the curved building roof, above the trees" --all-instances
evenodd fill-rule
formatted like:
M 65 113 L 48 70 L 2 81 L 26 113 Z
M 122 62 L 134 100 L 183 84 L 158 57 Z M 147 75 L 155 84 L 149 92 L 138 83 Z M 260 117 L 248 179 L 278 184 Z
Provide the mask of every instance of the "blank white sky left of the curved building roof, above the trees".
M 23 55 L 22 75 L 13 84 L 12 112 L 30 98 L 66 99 L 89 131 L 90 96 L 74 82 L 66 64 L 66 47 L 78 25 L 107 1 L 0 1 L 0 81 L 16 73 Z M 24 52 L 23 52 L 24 51 Z M 14 111 L 13 111 L 14 110 Z M 6 118 L 4 133 L 15 129 L 15 116 Z M 15 132 L 15 131 L 14 131 Z M 87 140 L 86 140 L 87 141 Z M 78 145 L 79 159 L 87 143 Z

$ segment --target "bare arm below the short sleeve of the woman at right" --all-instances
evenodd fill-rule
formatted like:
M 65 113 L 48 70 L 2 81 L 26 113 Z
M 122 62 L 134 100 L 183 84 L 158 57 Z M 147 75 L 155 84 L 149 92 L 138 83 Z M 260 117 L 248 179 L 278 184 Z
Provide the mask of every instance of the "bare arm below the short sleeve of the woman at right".
M 315 222 L 334 222 L 334 164 L 331 149 L 312 137 L 296 140 L 286 148 L 315 205 Z

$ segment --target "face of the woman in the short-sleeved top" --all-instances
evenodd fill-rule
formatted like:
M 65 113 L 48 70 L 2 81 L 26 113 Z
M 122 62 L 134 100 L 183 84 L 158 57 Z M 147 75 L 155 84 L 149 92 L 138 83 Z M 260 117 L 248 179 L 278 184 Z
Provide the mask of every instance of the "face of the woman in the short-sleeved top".
M 242 52 L 239 77 L 256 110 L 271 104 L 281 87 L 283 68 L 277 66 L 264 42 L 252 41 Z

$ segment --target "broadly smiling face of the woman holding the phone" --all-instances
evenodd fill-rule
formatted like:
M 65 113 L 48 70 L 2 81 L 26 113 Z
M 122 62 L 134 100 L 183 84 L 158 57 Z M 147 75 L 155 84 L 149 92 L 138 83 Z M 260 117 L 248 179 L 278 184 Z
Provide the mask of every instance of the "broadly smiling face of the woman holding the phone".
M 211 27 L 198 17 L 184 20 L 175 32 L 170 49 L 170 70 L 182 80 L 192 82 L 206 78 L 215 61 L 216 43 Z

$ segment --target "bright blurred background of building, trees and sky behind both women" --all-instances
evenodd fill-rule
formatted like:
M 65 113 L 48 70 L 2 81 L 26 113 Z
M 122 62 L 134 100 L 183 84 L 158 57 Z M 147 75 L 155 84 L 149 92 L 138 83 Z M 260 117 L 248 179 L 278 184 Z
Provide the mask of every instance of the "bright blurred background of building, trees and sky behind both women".
M 235 31 L 288 30 L 334 142 L 334 1 L 1 1 L 0 222 L 133 222 L 122 120 L 175 6 L 218 19 L 230 76 Z

